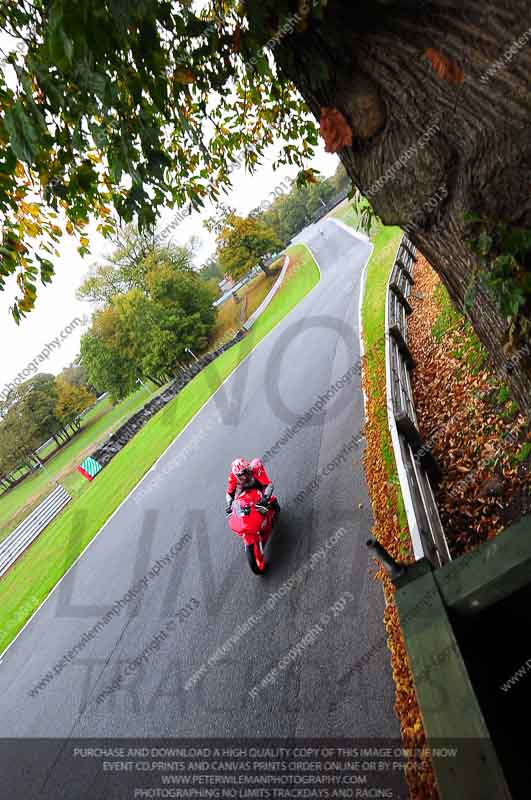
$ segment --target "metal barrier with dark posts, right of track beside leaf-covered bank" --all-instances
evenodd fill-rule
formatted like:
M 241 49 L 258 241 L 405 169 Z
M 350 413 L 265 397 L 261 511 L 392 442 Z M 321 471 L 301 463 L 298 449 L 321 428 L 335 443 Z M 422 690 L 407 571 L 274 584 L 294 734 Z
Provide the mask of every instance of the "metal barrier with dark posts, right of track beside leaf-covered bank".
M 410 380 L 415 364 L 407 320 L 412 313 L 408 297 L 415 283 L 414 263 L 415 248 L 403 236 L 387 287 L 387 411 L 415 558 L 440 567 L 451 560 L 431 485 L 440 478 L 440 468 L 420 435 Z

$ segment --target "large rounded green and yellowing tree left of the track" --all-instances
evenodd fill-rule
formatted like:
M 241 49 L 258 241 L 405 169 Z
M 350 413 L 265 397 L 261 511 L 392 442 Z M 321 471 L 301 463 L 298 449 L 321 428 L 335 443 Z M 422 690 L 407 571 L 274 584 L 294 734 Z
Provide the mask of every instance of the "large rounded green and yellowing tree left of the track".
M 207 346 L 215 292 L 194 270 L 193 255 L 192 245 L 161 244 L 128 226 L 79 288 L 79 299 L 98 306 L 81 338 L 80 363 L 114 402 L 139 380 L 162 386 L 189 360 L 187 349 Z

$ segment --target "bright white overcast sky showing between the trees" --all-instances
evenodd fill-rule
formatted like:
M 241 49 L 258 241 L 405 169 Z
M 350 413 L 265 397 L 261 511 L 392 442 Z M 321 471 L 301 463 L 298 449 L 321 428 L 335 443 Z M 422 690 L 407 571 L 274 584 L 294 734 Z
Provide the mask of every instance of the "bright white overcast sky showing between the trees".
M 268 193 L 285 178 L 294 178 L 298 172 L 295 167 L 283 167 L 273 172 L 271 164 L 280 145 L 270 148 L 264 163 L 253 175 L 243 168 L 232 175 L 233 188 L 221 202 L 236 208 L 240 214 L 247 214 L 251 209 L 267 199 Z M 339 164 L 335 155 L 325 153 L 320 145 L 315 157 L 307 164 L 317 169 L 324 177 L 332 175 Z M 207 204 L 201 213 L 193 213 L 173 231 L 170 239 L 175 244 L 185 244 L 192 236 L 198 236 L 201 246 L 197 251 L 197 265 L 204 263 L 214 252 L 214 237 L 208 233 L 203 221 L 213 214 L 214 206 Z M 162 230 L 171 222 L 176 211 L 167 209 L 160 217 L 158 228 Z M 91 264 L 97 263 L 111 246 L 96 232 L 95 226 L 88 231 L 91 255 L 82 258 L 77 252 L 77 239 L 64 234 L 58 247 L 60 257 L 54 260 L 56 274 L 48 286 L 38 284 L 37 301 L 34 310 L 17 325 L 13 320 L 9 306 L 16 294 L 14 278 L 6 281 L 6 287 L 0 292 L 0 396 L 8 382 L 26 369 L 25 378 L 31 377 L 35 371 L 58 374 L 63 367 L 70 364 L 79 352 L 81 335 L 89 327 L 90 315 L 94 311 L 91 303 L 76 299 L 76 289 L 83 282 Z M 67 334 L 65 328 L 73 320 L 73 330 Z M 85 324 L 81 320 L 86 319 Z M 62 334 L 62 336 L 61 336 Z M 54 342 L 59 338 L 59 342 Z M 49 345 L 49 347 L 47 347 Z M 42 355 L 42 359 L 38 356 Z M 39 369 L 28 367 L 36 359 Z M 28 370 L 30 370 L 28 372 Z

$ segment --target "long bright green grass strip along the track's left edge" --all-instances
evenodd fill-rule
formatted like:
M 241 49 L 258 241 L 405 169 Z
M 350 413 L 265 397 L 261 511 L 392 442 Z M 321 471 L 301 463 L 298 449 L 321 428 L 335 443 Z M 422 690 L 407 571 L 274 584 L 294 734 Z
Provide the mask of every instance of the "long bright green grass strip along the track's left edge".
M 215 389 L 318 283 L 319 270 L 304 246 L 288 254 L 294 269 L 248 336 L 185 386 L 92 483 L 85 481 L 83 491 L 0 581 L 0 652 Z

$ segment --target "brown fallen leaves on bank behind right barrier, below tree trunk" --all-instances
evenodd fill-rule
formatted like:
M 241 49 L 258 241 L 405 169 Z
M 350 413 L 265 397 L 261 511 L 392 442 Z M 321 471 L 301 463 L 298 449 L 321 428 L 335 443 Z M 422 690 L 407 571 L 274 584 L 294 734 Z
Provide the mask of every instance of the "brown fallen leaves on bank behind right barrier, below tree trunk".
M 408 341 L 416 367 L 413 395 L 420 432 L 443 470 L 436 490 L 452 555 L 491 539 L 515 521 L 531 498 L 529 461 L 518 452 L 531 443 L 525 418 L 503 401 L 503 383 L 485 364 L 474 369 L 463 357 L 470 337 L 457 320 L 437 341 L 440 281 L 418 256 L 410 297 Z M 502 399 L 500 399 L 502 398 Z

